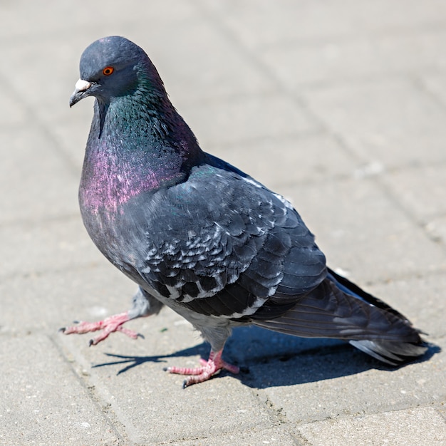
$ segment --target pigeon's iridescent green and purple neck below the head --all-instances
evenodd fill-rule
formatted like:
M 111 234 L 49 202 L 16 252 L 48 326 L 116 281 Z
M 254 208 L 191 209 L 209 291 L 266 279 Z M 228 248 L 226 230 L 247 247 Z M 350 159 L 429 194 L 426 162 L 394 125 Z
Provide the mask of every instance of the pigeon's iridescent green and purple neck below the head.
M 125 108 L 122 102 L 120 98 L 118 107 L 95 102 L 79 190 L 81 209 L 89 214 L 115 214 L 141 192 L 179 182 L 201 152 L 175 109 L 172 125 L 153 110 L 136 115 L 135 107 Z

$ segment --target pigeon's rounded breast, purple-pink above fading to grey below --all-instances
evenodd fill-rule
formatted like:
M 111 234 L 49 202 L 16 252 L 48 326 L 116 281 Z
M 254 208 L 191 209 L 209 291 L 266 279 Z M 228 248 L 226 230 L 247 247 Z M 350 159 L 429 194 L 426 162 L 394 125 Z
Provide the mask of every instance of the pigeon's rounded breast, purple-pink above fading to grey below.
M 127 274 L 138 275 L 153 195 L 179 177 L 177 169 L 163 168 L 142 152 L 98 144 L 85 153 L 79 187 L 83 223 L 98 249 Z

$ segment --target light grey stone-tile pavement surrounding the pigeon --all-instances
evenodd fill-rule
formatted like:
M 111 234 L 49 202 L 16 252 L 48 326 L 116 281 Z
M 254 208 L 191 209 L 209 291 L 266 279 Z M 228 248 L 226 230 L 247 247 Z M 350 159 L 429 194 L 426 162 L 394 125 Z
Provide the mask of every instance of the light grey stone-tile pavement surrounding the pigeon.
M 446 443 L 444 1 L 4 0 L 0 34 L 0 445 Z M 249 373 L 182 390 L 162 368 L 208 347 L 167 309 L 128 324 L 145 340 L 57 332 L 135 291 L 77 204 L 92 100 L 68 98 L 110 34 L 145 48 L 205 150 L 430 334 L 425 361 L 240 328 L 226 357 Z

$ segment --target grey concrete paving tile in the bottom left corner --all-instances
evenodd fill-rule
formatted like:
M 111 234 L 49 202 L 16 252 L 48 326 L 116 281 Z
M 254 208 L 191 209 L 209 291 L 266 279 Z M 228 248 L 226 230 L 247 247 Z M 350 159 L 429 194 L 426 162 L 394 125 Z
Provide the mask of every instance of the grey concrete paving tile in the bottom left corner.
M 1 336 L 0 343 L 2 445 L 123 444 L 46 336 Z

